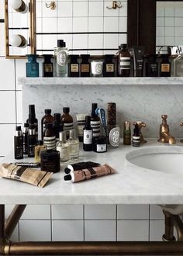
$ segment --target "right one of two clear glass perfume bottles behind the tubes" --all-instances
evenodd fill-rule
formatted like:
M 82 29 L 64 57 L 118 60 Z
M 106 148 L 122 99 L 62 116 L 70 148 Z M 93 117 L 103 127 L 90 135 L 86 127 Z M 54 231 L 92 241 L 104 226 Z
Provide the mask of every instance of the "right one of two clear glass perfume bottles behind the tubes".
M 69 144 L 69 154 L 70 159 L 75 160 L 79 157 L 79 140 L 76 137 L 76 130 L 72 129 L 69 131 L 69 139 L 67 140 Z

